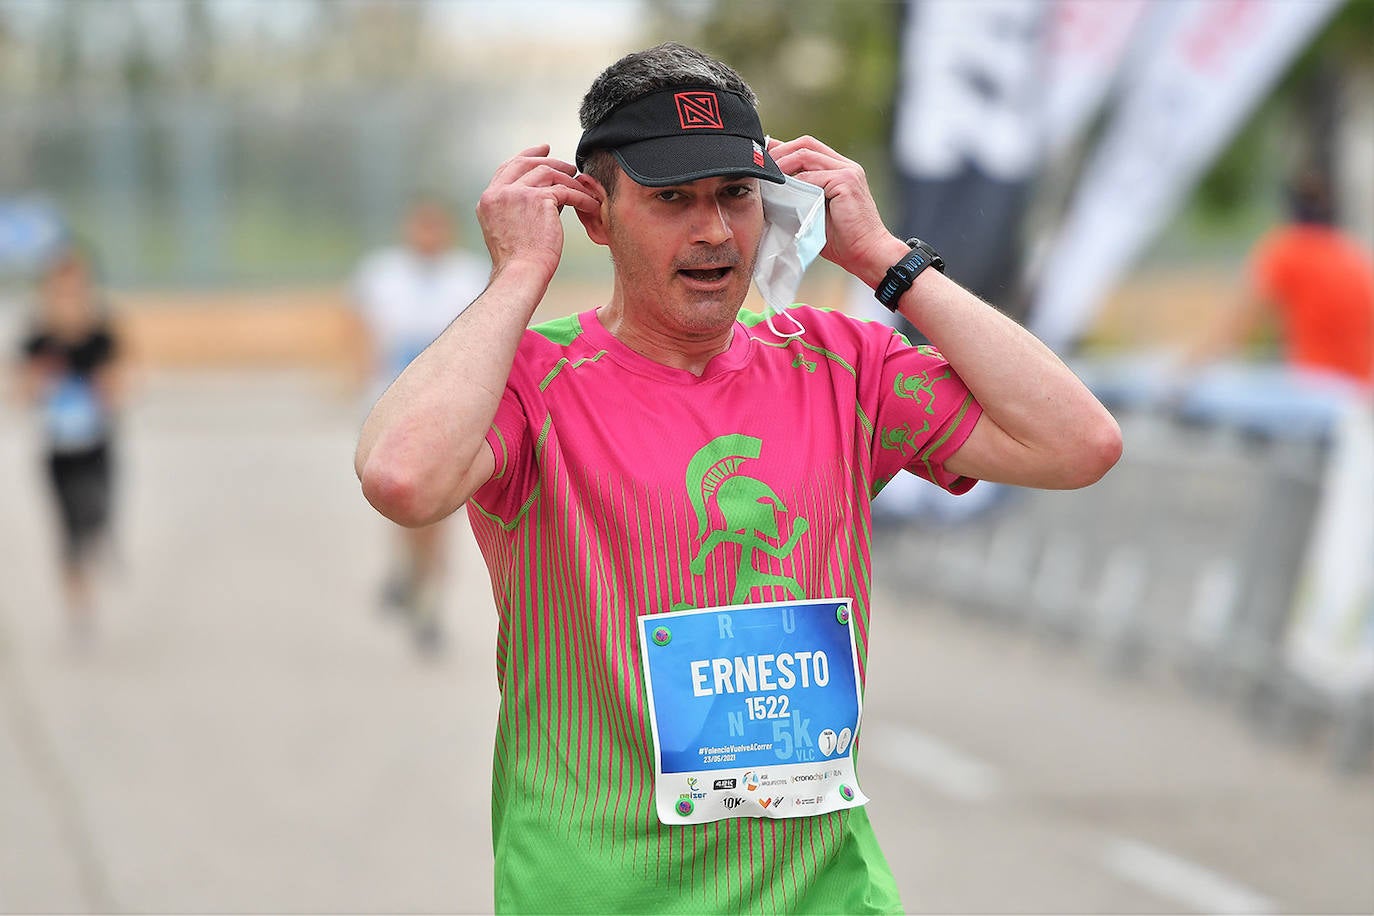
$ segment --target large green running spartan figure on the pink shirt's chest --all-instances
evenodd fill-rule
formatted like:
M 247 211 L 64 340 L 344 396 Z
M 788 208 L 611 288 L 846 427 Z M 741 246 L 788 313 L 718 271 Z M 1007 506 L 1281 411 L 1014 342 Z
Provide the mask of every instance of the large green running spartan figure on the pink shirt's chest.
M 778 518 L 787 507 L 772 488 L 758 478 L 741 474 L 739 467 L 758 457 L 763 441 L 738 433 L 721 435 L 701 448 L 687 464 L 687 496 L 697 511 L 697 537 L 703 537 L 701 549 L 692 558 L 691 571 L 706 571 L 706 556 L 721 544 L 739 544 L 739 567 L 735 570 L 735 593 L 731 603 L 743 604 L 754 588 L 776 585 L 787 589 L 790 597 L 804 597 L 797 580 L 754 569 L 754 553 L 790 556 L 801 536 L 807 533 L 807 519 L 800 515 L 791 525 L 786 542 L 775 547 Z M 716 503 L 725 522 L 724 529 L 710 527 L 710 503 Z

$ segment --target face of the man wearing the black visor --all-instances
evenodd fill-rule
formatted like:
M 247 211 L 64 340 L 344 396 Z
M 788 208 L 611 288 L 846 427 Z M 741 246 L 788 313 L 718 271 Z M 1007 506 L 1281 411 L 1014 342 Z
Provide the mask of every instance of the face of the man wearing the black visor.
M 758 180 L 650 188 L 618 179 L 605 213 L 627 312 L 672 335 L 719 334 L 735 320 L 753 277 L 764 229 Z

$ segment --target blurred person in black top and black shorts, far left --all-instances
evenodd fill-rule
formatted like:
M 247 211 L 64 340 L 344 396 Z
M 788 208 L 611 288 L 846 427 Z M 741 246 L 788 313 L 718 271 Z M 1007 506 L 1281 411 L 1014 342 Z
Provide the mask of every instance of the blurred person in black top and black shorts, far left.
M 21 394 L 43 412 L 62 527 L 62 580 L 77 636 L 92 625 L 92 573 L 110 530 L 113 438 L 122 400 L 120 347 L 88 255 L 66 247 L 38 282 L 23 341 Z

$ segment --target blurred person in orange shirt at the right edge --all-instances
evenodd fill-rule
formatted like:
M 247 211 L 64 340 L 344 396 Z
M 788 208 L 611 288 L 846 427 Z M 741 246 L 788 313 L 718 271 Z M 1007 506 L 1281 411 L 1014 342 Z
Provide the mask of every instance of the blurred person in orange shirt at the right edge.
M 1374 390 L 1374 262 L 1334 225 L 1323 176 L 1307 172 L 1289 191 L 1292 221 L 1265 235 L 1250 257 L 1242 294 L 1182 360 L 1195 369 L 1234 352 L 1278 319 L 1290 369 L 1318 383 Z

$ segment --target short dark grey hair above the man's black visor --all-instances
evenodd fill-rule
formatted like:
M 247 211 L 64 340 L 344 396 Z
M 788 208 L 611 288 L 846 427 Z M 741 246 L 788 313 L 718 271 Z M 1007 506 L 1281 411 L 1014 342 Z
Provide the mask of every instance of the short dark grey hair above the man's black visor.
M 734 92 L 758 107 L 758 96 L 732 67 L 695 48 L 665 41 L 627 54 L 600 71 L 583 96 L 578 111 L 583 130 L 595 126 L 620 104 L 673 87 L 709 87 Z

